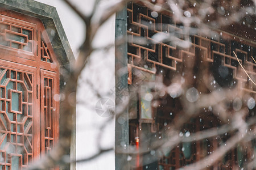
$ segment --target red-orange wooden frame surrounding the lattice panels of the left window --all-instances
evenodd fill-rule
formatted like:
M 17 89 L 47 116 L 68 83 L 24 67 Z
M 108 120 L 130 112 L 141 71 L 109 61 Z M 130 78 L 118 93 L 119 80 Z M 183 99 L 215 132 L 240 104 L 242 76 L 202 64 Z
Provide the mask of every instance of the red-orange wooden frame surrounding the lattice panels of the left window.
M 48 150 L 51 150 L 51 148 L 55 145 L 55 143 L 59 139 L 59 104 L 60 102 L 58 100 L 58 96 L 60 94 L 60 88 L 59 88 L 60 65 L 59 65 L 59 62 L 57 61 L 57 57 L 55 53 L 53 52 L 51 41 L 47 35 L 46 29 L 44 28 L 44 25 L 41 20 L 32 18 L 30 16 L 18 14 L 14 11 L 3 10 L 2 8 L 0 8 L 0 18 L 1 18 L 0 24 L 5 22 L 5 24 L 8 23 L 11 25 L 10 30 L 8 29 L 8 27 L 6 27 L 7 29 L 0 28 L 0 36 L 6 32 L 12 33 L 11 27 L 15 27 L 18 29 L 16 29 L 16 32 L 15 31 L 13 32 L 14 35 L 24 36 L 25 37 L 24 39 L 27 39 L 24 42 L 19 42 L 20 45 L 26 44 L 25 42 L 27 41 L 31 42 L 32 44 L 31 51 L 26 51 L 26 50 L 23 50 L 22 48 L 12 48 L 11 46 L 0 44 L 0 67 L 3 65 L 4 61 L 6 61 L 9 63 L 10 68 L 14 67 L 16 70 L 27 69 L 27 68 L 34 69 L 34 75 L 33 75 L 34 85 L 32 87 L 34 90 L 34 96 L 30 103 L 31 106 L 34 106 L 33 111 L 31 111 L 33 114 L 33 118 L 30 122 L 33 126 L 33 132 L 34 132 L 34 134 L 32 135 L 33 151 L 32 151 L 32 154 L 30 155 L 31 158 L 29 159 L 29 162 L 31 162 L 35 158 L 39 158 L 41 155 L 44 155 Z M 26 30 L 31 31 L 29 35 L 24 35 L 20 33 L 25 28 Z M 10 44 L 13 42 L 16 42 L 13 40 L 9 40 L 9 41 L 11 41 Z M 42 46 L 42 43 L 44 44 L 43 46 Z M 46 59 L 46 61 L 42 61 L 41 59 L 42 48 L 46 49 L 47 51 L 46 56 L 48 58 Z M 16 63 L 22 63 L 22 65 L 18 64 L 19 67 L 18 66 L 16 67 L 17 65 Z M 50 110 L 52 111 L 52 114 L 53 114 L 53 117 L 52 117 L 53 124 L 50 128 L 52 128 L 53 133 L 52 133 L 52 136 L 50 137 L 52 141 L 51 142 L 52 145 L 51 147 L 48 147 L 48 148 L 43 147 L 45 146 L 47 139 L 46 137 L 43 137 L 43 133 L 40 133 L 40 131 L 44 132 L 47 129 L 47 127 L 45 127 L 44 124 L 42 124 L 42 121 L 40 121 L 42 120 L 42 118 L 46 117 L 46 115 L 43 112 L 44 108 L 41 105 L 44 101 L 43 99 L 44 95 L 42 92 L 42 89 L 44 89 L 44 85 L 40 83 L 42 82 L 42 76 L 44 77 L 47 76 L 48 78 L 53 79 L 54 90 L 51 96 L 51 100 L 56 99 L 56 100 L 53 100 L 53 104 L 50 106 L 51 107 Z M 9 91 L 10 91 L 9 95 L 6 94 L 6 97 L 9 97 L 13 90 L 9 90 Z M 13 91 L 13 92 L 17 92 L 17 91 Z M 2 92 L 0 92 L 0 94 L 2 94 Z M 9 100 L 9 99 L 6 99 L 6 100 Z M 2 101 L 2 98 L 1 98 L 1 101 Z M 11 105 L 9 108 L 11 109 Z M 35 109 L 35 108 L 38 108 L 38 109 Z M 23 111 L 20 111 L 20 109 L 18 109 L 18 111 L 12 111 L 12 112 L 16 112 L 18 114 L 18 113 L 22 113 Z M 0 142 L 1 141 L 2 140 L 0 137 Z M 16 154 L 16 153 L 13 153 L 13 155 L 18 156 L 17 158 L 19 158 L 19 164 L 20 164 L 20 160 L 22 160 L 22 155 Z M 7 159 L 8 154 L 2 154 L 1 156 L 6 156 L 5 158 Z M 1 160 L 0 160 L 1 169 L 11 168 L 11 160 L 10 161 L 6 160 L 6 163 L 1 163 Z M 24 169 L 27 168 L 28 167 L 27 160 L 28 158 L 26 159 L 26 165 L 22 165 L 19 168 L 24 168 Z

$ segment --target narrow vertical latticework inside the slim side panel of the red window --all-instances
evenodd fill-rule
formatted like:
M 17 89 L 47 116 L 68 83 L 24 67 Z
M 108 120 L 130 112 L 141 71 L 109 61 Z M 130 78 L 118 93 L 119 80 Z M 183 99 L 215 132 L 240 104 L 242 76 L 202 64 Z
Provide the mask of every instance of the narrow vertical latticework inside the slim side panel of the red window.
M 41 152 L 47 153 L 53 147 L 53 116 L 55 112 L 54 100 L 53 100 L 53 78 L 43 77 L 44 87 L 43 87 L 43 114 L 41 117 L 42 120 L 42 146 Z

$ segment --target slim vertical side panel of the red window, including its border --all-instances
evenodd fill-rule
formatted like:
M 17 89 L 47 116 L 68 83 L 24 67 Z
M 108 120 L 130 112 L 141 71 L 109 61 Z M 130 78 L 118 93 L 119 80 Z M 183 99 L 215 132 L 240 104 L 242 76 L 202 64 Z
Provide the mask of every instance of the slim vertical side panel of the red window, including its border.
M 52 71 L 40 70 L 40 93 L 41 96 L 41 147 L 42 154 L 51 151 L 56 142 L 59 131 L 59 78 Z

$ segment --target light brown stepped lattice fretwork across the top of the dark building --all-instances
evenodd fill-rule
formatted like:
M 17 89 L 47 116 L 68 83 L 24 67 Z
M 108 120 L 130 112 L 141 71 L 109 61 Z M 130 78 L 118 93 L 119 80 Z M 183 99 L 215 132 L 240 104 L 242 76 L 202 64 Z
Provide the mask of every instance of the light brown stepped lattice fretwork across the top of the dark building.
M 134 7 L 137 5 L 139 10 Z M 142 8 L 142 9 L 141 9 Z M 200 50 L 201 53 L 204 54 L 204 61 L 213 62 L 214 56 L 219 56 L 222 59 L 222 65 L 233 69 L 233 78 L 239 80 L 242 84 L 246 86 L 243 90 L 247 92 L 252 92 L 256 94 L 256 89 L 253 88 L 253 84 L 249 81 L 247 76 L 244 74 L 238 74 L 238 68 L 240 65 L 237 62 L 236 57 L 233 54 L 233 51 L 237 54 L 239 61 L 242 65 L 246 66 L 245 69 L 251 78 L 256 80 L 256 63 L 254 63 L 251 56 L 255 54 L 256 43 L 243 39 L 242 37 L 234 36 L 231 33 L 214 30 L 216 35 L 205 36 L 205 35 L 192 35 L 191 39 L 191 47 L 187 49 L 178 48 L 176 44 L 171 45 L 164 42 L 158 42 L 157 44 L 153 44 L 153 46 L 158 45 L 159 50 L 156 53 L 156 48 L 153 49 L 146 48 L 143 45 L 138 45 L 133 43 L 134 37 L 146 37 L 146 40 L 152 40 L 151 37 L 148 37 L 148 24 L 142 21 L 142 18 L 146 18 L 147 20 L 152 20 L 151 27 L 154 28 L 151 32 L 159 33 L 164 31 L 175 31 L 177 30 L 177 36 L 179 39 L 183 40 L 182 29 L 180 29 L 179 24 L 175 23 L 171 17 L 172 14 L 168 11 L 163 12 L 163 14 L 159 13 L 158 18 L 154 18 L 151 16 L 151 10 L 147 7 L 141 5 L 140 3 L 131 2 L 131 6 L 127 7 L 127 35 L 129 36 L 130 42 L 127 44 L 128 46 L 128 82 L 132 84 L 132 69 L 138 69 L 143 72 L 156 74 L 156 67 L 160 66 L 170 70 L 177 70 L 177 64 L 182 64 L 184 58 L 188 56 L 195 56 L 196 50 Z M 143 14 L 141 14 L 143 13 Z M 138 14 L 137 16 L 134 16 Z M 162 20 L 163 18 L 169 18 L 170 23 L 164 23 L 167 27 L 163 28 Z M 156 20 L 160 20 L 158 22 L 160 28 L 156 28 Z M 141 28 L 147 28 L 146 33 L 141 32 Z M 176 31 L 175 31 L 176 32 Z M 154 35 L 153 33 L 151 33 Z M 146 35 L 146 36 L 143 36 Z M 226 39 L 226 40 L 225 40 Z M 150 41 L 148 41 L 150 43 Z M 154 41 L 151 41 L 151 43 Z M 236 47 L 239 46 L 240 47 Z M 246 49 L 246 47 L 248 49 Z M 168 49 L 167 49 L 168 48 Z M 165 50 L 164 50 L 165 49 Z M 135 53 L 133 53 L 135 52 Z M 152 52 L 156 53 L 159 61 L 152 61 L 150 59 L 150 55 Z M 164 57 L 165 56 L 165 57 Z M 245 59 L 241 59 L 242 56 L 245 56 Z M 166 59 L 171 59 L 170 62 L 164 62 Z

